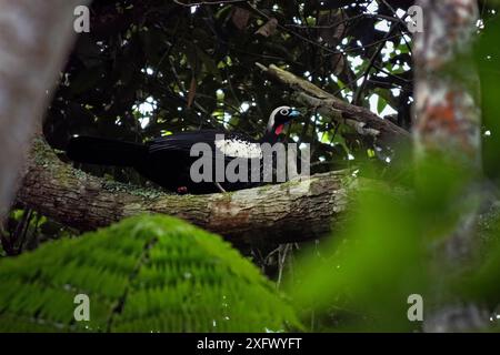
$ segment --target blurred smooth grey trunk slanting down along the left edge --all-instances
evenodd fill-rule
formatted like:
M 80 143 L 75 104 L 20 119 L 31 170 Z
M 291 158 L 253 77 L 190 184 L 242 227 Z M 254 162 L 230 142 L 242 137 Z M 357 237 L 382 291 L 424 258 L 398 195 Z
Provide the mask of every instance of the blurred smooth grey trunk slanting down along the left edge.
M 87 0 L 0 0 L 0 219 Z

